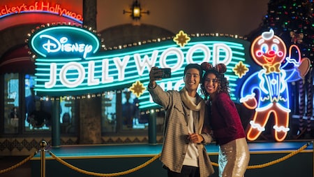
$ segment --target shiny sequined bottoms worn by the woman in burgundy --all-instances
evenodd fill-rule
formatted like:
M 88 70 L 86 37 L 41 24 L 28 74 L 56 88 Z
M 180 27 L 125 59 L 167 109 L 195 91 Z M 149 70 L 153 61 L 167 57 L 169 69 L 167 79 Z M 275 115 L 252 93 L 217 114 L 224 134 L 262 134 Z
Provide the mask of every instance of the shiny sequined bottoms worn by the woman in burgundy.
M 219 146 L 219 177 L 243 177 L 250 161 L 246 139 L 235 139 Z

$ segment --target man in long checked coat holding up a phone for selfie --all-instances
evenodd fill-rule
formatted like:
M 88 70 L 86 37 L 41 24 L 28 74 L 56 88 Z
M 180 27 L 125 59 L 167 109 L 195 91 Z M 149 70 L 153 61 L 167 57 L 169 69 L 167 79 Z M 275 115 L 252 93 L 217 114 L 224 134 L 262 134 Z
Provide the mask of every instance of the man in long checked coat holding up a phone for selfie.
M 184 88 L 165 92 L 156 80 L 162 71 L 153 67 L 149 73 L 148 90 L 156 104 L 165 108 L 163 149 L 160 161 L 168 177 L 207 177 L 214 169 L 204 144 L 211 136 L 204 132 L 204 100 L 197 94 L 202 78 L 199 64 L 184 69 Z

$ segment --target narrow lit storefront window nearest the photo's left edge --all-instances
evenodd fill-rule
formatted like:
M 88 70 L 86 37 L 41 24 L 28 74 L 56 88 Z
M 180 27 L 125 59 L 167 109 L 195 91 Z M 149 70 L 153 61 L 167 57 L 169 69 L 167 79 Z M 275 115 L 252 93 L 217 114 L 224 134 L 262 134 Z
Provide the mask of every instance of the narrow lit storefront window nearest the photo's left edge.
M 20 122 L 19 75 L 4 75 L 4 133 L 17 134 Z

